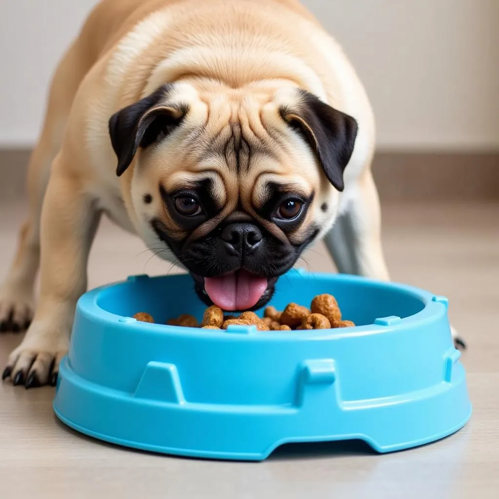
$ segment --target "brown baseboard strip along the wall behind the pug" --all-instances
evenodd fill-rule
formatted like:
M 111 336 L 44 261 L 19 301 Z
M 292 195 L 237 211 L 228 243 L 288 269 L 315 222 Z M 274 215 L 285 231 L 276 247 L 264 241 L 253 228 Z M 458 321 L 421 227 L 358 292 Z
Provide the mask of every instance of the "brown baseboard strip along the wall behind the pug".
M 25 193 L 29 149 L 0 149 L 0 199 Z M 499 152 L 376 154 L 374 178 L 382 202 L 499 201 Z

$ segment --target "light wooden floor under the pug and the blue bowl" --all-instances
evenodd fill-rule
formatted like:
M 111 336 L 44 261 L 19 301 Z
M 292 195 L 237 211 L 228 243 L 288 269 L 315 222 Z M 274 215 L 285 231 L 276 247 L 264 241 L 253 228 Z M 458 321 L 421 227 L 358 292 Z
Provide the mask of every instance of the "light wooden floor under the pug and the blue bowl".
M 0 274 L 23 208 L 0 205 Z M 278 451 L 264 463 L 151 455 L 83 437 L 59 423 L 52 388 L 0 384 L 0 498 L 498 498 L 499 205 L 388 206 L 384 245 L 394 280 L 450 299 L 474 404 L 470 423 L 441 442 L 388 455 L 360 446 Z M 92 251 L 90 286 L 174 271 L 105 222 Z M 332 265 L 321 245 L 305 259 Z M 0 336 L 0 365 L 20 336 Z

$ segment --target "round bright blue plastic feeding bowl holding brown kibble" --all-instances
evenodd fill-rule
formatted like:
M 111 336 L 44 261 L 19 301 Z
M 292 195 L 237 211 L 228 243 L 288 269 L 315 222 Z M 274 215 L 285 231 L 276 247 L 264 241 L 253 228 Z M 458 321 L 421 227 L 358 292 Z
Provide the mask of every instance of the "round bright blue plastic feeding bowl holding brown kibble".
M 471 405 L 447 299 L 401 284 L 292 271 L 271 304 L 332 293 L 357 327 L 227 331 L 165 323 L 204 306 L 188 275 L 130 277 L 78 301 L 56 415 L 86 435 L 183 456 L 263 460 L 288 442 L 378 452 L 460 429 Z

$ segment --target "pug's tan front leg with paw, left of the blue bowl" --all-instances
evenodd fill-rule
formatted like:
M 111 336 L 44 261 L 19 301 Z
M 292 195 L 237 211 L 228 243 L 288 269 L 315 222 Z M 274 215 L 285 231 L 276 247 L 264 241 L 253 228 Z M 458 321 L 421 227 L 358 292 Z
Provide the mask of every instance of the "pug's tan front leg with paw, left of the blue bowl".
M 78 297 L 87 285 L 87 260 L 99 213 L 82 181 L 54 161 L 41 217 L 40 298 L 3 377 L 26 388 L 55 384 L 67 352 Z

